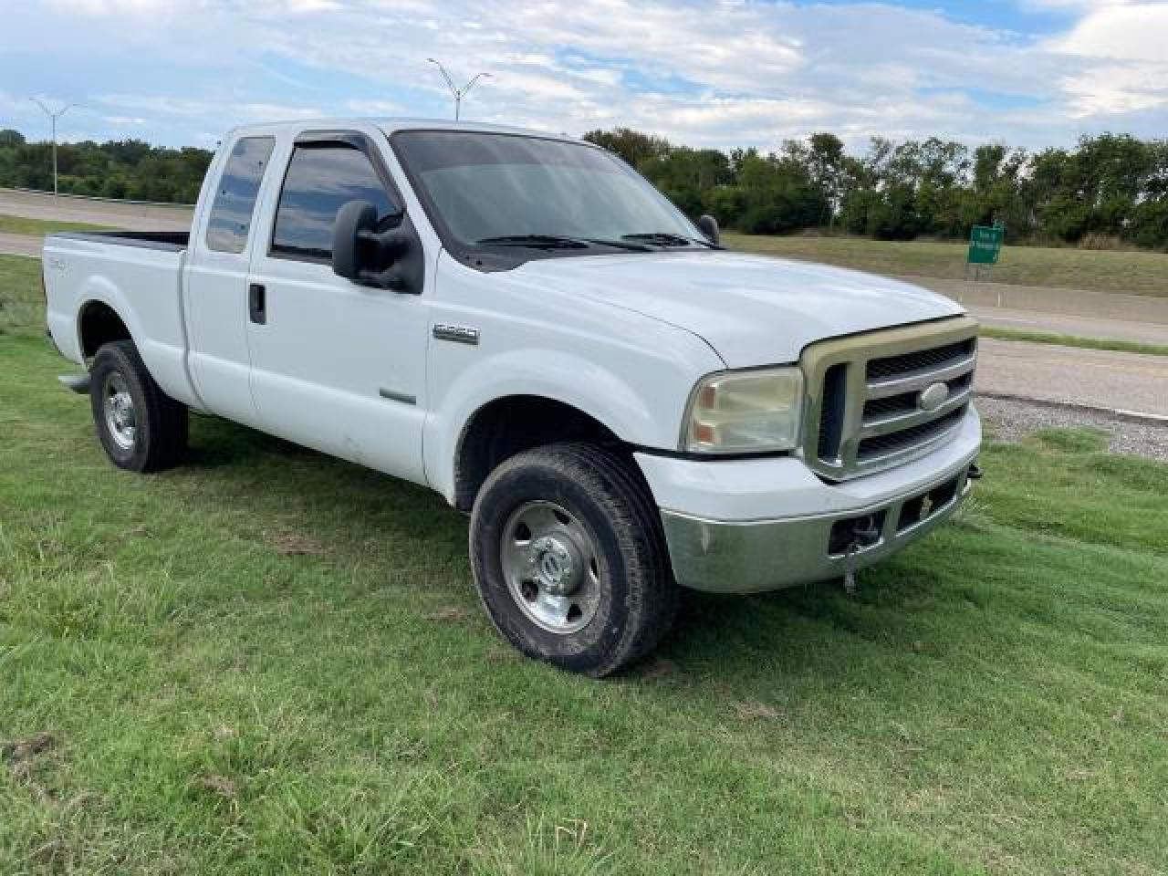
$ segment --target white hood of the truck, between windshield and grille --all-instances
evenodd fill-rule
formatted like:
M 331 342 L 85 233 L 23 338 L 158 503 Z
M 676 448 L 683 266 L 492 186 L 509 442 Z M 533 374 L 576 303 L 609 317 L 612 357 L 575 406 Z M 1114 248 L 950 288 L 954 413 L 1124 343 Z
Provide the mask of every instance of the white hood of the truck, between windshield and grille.
M 885 277 L 735 252 L 547 258 L 515 274 L 688 329 L 730 368 L 794 362 L 813 341 L 965 312 Z

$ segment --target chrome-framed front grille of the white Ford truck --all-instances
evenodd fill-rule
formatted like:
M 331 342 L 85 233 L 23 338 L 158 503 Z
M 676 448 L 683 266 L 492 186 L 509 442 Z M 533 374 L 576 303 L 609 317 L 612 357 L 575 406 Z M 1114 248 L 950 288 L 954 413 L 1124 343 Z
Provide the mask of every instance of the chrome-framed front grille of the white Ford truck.
M 814 343 L 807 376 L 804 457 L 844 480 L 923 456 L 952 436 L 973 395 L 978 324 L 968 317 Z M 922 394 L 945 384 L 932 410 Z

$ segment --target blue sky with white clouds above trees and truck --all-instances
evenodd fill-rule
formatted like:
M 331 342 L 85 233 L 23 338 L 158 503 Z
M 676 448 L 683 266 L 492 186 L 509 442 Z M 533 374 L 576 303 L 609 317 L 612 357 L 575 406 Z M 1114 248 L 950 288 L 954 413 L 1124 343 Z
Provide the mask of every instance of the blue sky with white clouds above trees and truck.
M 830 130 L 1041 148 L 1168 137 L 1168 2 L 32 0 L 5 12 L 0 127 L 214 144 L 249 120 L 465 116 L 695 146 Z

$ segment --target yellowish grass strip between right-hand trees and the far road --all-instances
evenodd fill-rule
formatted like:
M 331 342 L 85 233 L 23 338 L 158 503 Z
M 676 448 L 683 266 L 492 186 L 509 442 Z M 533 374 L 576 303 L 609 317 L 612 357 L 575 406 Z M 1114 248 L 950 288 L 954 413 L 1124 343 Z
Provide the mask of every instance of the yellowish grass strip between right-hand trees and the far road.
M 825 262 L 875 273 L 962 279 L 964 243 L 870 241 L 864 237 L 767 237 L 726 234 L 731 249 L 809 262 Z M 1168 296 L 1168 255 L 1003 246 L 987 279 L 1022 286 L 1057 286 L 1138 296 Z

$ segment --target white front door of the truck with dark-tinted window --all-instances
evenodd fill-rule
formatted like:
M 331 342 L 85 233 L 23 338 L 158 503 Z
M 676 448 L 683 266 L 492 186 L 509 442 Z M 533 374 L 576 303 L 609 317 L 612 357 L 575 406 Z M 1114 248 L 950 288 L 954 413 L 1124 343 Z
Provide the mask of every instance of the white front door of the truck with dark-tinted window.
M 266 431 L 424 481 L 422 427 L 429 303 L 359 286 L 332 270 L 347 202 L 378 216 L 402 204 L 370 138 L 301 134 L 292 145 L 248 278 L 251 390 Z

